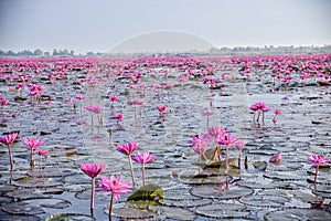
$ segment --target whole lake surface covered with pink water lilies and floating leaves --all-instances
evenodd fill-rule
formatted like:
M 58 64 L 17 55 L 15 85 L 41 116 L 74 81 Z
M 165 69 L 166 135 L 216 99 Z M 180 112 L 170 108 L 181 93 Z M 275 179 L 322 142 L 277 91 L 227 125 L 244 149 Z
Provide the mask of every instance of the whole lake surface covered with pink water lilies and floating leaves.
M 331 54 L 0 59 L 0 217 L 331 220 L 330 84 Z

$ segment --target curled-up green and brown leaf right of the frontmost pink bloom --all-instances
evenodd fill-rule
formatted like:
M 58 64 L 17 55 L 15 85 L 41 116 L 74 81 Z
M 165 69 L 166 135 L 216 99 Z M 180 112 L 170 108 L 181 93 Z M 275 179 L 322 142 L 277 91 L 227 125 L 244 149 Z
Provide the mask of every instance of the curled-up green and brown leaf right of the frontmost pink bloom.
M 128 197 L 128 201 L 159 201 L 163 199 L 163 190 L 157 185 L 142 186 Z

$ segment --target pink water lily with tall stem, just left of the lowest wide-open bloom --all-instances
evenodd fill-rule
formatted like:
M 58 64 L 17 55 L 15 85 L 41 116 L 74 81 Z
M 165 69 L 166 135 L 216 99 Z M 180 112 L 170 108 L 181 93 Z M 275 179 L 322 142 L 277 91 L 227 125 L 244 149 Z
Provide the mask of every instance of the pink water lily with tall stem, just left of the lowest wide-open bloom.
M 81 164 L 81 169 L 92 178 L 92 190 L 90 190 L 90 207 L 89 209 L 93 210 L 94 208 L 94 197 L 95 197 L 95 178 L 98 177 L 105 169 L 107 165 L 100 164 Z

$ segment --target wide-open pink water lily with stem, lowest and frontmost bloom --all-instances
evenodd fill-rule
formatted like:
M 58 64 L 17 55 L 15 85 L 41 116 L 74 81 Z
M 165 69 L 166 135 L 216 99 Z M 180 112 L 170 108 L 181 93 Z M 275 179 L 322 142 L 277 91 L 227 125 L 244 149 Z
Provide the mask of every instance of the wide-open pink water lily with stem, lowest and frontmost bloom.
M 99 182 L 99 190 L 100 191 L 109 191 L 111 192 L 110 203 L 109 203 L 109 220 L 111 220 L 113 213 L 113 201 L 114 198 L 119 200 L 120 193 L 128 193 L 131 192 L 131 187 L 129 186 L 128 181 L 121 181 L 120 175 L 115 176 L 111 175 L 110 179 L 106 176 L 103 176 Z

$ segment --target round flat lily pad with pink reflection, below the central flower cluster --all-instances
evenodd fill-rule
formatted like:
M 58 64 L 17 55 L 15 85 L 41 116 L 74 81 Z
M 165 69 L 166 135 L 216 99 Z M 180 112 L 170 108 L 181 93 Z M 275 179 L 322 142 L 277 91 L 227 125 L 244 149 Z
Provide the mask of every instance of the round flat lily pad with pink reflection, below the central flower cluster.
M 196 197 L 209 198 L 209 199 L 236 199 L 252 194 L 254 189 L 247 187 L 239 187 L 226 183 L 220 185 L 203 185 L 193 187 L 191 193 Z

